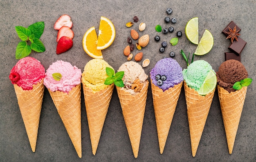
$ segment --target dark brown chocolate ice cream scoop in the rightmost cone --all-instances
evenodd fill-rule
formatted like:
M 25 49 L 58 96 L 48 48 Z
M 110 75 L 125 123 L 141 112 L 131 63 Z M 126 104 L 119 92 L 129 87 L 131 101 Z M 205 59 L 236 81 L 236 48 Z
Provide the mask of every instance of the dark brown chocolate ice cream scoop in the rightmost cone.
M 248 73 L 240 61 L 230 59 L 220 65 L 216 76 L 217 84 L 230 93 L 236 91 L 233 88 L 234 83 L 247 78 Z

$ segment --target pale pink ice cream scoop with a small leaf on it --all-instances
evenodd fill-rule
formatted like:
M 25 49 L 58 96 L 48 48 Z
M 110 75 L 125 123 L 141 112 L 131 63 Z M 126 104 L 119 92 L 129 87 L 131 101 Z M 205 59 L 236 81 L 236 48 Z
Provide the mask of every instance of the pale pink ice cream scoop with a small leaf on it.
M 61 74 L 61 79 L 54 79 L 55 74 Z M 52 92 L 68 93 L 73 87 L 81 83 L 81 69 L 72 66 L 69 62 L 56 61 L 46 70 L 44 85 Z

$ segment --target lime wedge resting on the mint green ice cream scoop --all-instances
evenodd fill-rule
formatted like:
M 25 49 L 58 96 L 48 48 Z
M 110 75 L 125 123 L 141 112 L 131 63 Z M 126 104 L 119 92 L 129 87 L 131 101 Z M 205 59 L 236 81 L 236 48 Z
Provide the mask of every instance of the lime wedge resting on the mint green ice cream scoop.
M 198 90 L 198 94 L 205 96 L 211 91 L 214 90 L 217 84 L 217 77 L 215 72 L 213 70 L 210 70 L 204 79 L 204 82 L 202 83 L 201 87 Z

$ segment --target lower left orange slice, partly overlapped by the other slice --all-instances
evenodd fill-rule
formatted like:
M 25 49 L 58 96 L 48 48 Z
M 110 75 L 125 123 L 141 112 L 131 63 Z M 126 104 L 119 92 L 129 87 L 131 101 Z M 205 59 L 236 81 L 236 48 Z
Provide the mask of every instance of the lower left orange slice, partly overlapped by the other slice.
M 103 59 L 101 50 L 97 50 L 97 43 L 97 33 L 93 26 L 83 36 L 83 50 L 94 59 Z

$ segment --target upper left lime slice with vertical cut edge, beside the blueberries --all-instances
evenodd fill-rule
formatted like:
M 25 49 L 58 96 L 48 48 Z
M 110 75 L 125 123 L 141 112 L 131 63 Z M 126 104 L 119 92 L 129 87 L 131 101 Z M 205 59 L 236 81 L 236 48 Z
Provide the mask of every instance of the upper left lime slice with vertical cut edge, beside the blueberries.
M 189 20 L 185 27 L 185 34 L 191 43 L 198 44 L 198 17 Z

